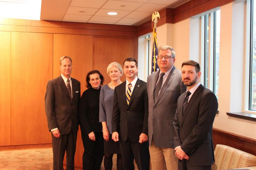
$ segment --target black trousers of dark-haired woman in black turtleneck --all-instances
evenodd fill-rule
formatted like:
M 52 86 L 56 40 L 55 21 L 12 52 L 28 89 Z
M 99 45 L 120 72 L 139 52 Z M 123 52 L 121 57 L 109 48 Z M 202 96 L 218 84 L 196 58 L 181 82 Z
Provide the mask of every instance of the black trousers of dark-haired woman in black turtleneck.
M 89 139 L 88 134 L 81 133 L 84 144 L 83 170 L 100 170 L 104 156 L 104 144 L 102 132 L 94 132 L 95 141 Z

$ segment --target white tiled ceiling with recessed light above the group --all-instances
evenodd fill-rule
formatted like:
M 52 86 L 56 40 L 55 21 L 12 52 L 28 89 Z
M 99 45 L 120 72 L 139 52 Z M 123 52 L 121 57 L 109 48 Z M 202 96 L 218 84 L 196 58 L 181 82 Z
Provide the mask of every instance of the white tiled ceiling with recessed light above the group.
M 189 0 L 42 0 L 41 20 L 139 25 L 154 11 L 174 8 Z M 107 12 L 117 12 L 108 15 Z M 160 16 L 161 17 L 161 16 Z

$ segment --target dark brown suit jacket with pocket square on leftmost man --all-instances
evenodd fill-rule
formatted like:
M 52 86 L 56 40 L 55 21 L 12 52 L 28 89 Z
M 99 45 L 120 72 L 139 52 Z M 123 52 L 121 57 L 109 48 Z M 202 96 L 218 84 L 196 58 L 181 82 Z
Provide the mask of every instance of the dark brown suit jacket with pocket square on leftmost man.
M 60 76 L 47 83 L 45 93 L 45 112 L 49 130 L 58 128 L 61 135 L 78 129 L 78 102 L 80 100 L 80 82 L 74 78 L 72 81 L 72 100 L 68 89 Z

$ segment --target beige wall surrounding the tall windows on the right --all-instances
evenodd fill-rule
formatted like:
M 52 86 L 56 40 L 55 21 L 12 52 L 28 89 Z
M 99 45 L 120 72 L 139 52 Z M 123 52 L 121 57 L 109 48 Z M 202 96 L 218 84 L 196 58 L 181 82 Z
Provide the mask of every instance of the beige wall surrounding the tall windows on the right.
M 229 3 L 220 7 L 219 114 L 213 127 L 255 139 L 256 122 L 226 114 L 244 111 L 245 5 L 245 2 Z M 200 63 L 200 18 L 168 25 L 157 27 L 157 40 L 159 45 L 167 44 L 174 48 L 175 67 L 181 69 L 181 63 L 188 59 Z M 172 32 L 173 36 L 170 36 Z

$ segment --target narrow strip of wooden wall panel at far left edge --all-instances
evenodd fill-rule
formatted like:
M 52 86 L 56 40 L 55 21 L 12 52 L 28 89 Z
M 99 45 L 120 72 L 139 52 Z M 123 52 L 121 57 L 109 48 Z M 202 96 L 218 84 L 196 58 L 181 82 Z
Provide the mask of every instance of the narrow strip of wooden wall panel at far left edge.
M 2 83 L 0 83 L 0 146 L 11 145 L 10 111 L 10 41 L 11 32 L 0 31 L 0 63 Z

